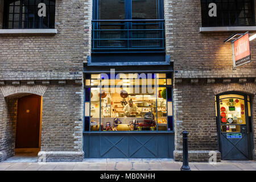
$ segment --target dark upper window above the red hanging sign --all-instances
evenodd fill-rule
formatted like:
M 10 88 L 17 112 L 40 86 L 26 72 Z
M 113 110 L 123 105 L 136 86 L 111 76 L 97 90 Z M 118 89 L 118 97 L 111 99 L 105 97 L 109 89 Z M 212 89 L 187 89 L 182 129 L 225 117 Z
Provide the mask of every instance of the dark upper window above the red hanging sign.
M 217 5 L 217 16 L 209 16 L 210 3 Z M 255 26 L 253 0 L 201 0 L 202 26 Z

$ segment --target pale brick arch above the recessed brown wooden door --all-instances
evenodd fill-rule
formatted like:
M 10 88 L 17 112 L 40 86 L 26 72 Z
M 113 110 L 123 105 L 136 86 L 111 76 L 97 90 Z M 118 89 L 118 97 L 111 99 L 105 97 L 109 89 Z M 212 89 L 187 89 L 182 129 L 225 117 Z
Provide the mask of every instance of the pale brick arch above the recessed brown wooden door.
M 3 93 L 3 97 L 12 97 L 19 94 L 36 94 L 38 96 L 43 96 L 43 94 L 47 90 L 47 86 L 45 85 L 7 85 L 7 86 L 0 86 L 0 90 Z

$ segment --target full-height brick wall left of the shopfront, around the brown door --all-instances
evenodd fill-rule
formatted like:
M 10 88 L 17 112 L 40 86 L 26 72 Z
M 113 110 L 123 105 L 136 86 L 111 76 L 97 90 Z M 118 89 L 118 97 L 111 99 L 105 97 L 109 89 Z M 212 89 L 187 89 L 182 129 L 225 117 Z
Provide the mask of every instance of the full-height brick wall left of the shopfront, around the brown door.
M 82 71 L 90 51 L 91 16 L 92 1 L 56 0 L 56 35 L 0 36 L 2 160 L 14 155 L 16 101 L 31 93 L 43 96 L 39 159 L 83 159 Z

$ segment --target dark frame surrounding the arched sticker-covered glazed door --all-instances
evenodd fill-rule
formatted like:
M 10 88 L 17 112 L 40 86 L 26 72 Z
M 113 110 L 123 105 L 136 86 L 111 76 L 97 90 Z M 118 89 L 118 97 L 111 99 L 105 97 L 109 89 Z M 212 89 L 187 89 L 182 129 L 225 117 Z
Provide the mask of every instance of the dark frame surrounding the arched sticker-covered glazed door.
M 220 139 L 220 136 L 221 136 L 221 125 L 220 125 L 220 121 L 221 121 L 221 116 L 220 116 L 220 96 L 224 96 L 224 95 L 227 95 L 227 94 L 237 94 L 237 95 L 240 95 L 240 96 L 243 96 L 244 97 L 244 101 L 245 101 L 245 118 L 246 118 L 246 130 L 247 130 L 247 146 L 248 146 L 248 153 L 249 153 L 249 159 L 248 160 L 253 160 L 254 156 L 253 156 L 253 149 L 254 149 L 254 144 L 253 144 L 253 139 L 251 137 L 253 137 L 253 134 L 254 134 L 254 130 L 251 129 L 251 132 L 250 132 L 250 128 L 249 128 L 249 114 L 248 114 L 248 100 L 247 100 L 247 97 L 250 98 L 250 111 L 251 113 L 252 110 L 251 110 L 251 94 L 246 94 L 246 93 L 243 93 L 243 92 L 236 92 L 236 91 L 229 91 L 229 92 L 224 92 L 224 93 L 220 93 L 220 94 L 217 94 L 216 95 L 216 109 L 217 109 L 217 134 L 218 134 L 218 150 L 222 153 L 222 143 L 221 143 L 221 139 Z M 252 118 L 252 116 L 251 116 Z M 251 122 L 253 122 L 253 119 L 250 119 Z M 253 125 L 251 125 L 252 127 Z M 221 160 L 222 160 L 222 156 L 221 156 Z M 239 160 L 239 159 L 233 159 L 233 160 Z

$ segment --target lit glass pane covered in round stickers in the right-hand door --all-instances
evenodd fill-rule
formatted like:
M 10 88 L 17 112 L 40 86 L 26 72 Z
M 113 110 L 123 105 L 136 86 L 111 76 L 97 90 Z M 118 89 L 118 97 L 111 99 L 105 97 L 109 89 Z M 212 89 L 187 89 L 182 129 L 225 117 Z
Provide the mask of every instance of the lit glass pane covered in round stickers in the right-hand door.
M 245 125 L 245 101 L 240 98 L 224 98 L 220 100 L 221 124 Z

